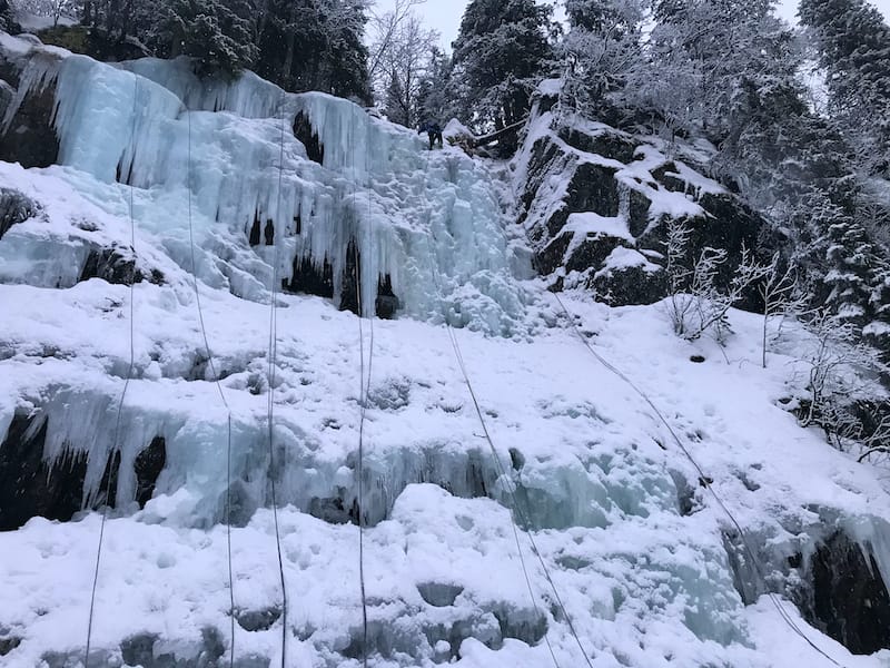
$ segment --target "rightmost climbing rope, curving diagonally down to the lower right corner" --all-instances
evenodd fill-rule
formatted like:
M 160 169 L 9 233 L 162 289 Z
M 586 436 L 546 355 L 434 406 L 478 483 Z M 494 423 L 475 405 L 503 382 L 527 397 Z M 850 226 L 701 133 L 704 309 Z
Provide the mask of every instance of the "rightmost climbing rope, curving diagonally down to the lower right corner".
M 533 246 L 532 239 L 528 238 L 527 234 L 526 234 L 526 240 L 528 243 L 528 247 L 533 249 L 532 250 L 532 253 L 533 253 L 532 258 L 533 258 L 534 268 L 538 273 L 538 275 L 543 276 L 543 274 L 541 273 L 541 267 L 540 267 L 538 261 L 537 261 L 537 253 L 534 250 L 534 246 Z M 680 449 L 680 451 L 683 453 L 683 455 L 690 461 L 692 466 L 699 473 L 699 480 L 701 481 L 701 484 L 704 485 L 708 489 L 709 492 L 711 492 L 711 495 L 714 498 L 714 501 L 716 502 L 716 504 L 721 508 L 723 513 L 726 515 L 726 518 L 730 520 L 732 525 L 739 532 L 739 538 L 742 541 L 742 547 L 744 548 L 744 551 L 748 554 L 748 557 L 751 559 L 751 563 L 754 566 L 754 570 L 756 571 L 758 577 L 762 581 L 764 590 L 767 591 L 767 595 L 770 598 L 770 601 L 772 602 L 773 607 L 779 612 L 779 616 L 782 618 L 782 620 L 789 626 L 789 628 L 791 628 L 792 631 L 794 631 L 798 636 L 800 636 L 819 655 L 821 655 L 822 657 L 824 657 L 825 659 L 831 661 L 832 665 L 838 666 L 839 668 L 844 668 L 842 664 L 839 664 L 835 659 L 833 659 L 831 656 L 829 656 L 824 650 L 819 648 L 812 640 L 810 640 L 810 638 L 807 637 L 807 635 L 801 630 L 801 628 L 798 626 L 798 623 L 794 621 L 794 619 L 790 616 L 788 610 L 784 609 L 784 606 L 782 606 L 781 601 L 779 600 L 779 597 L 773 591 L 770 591 L 769 583 L 767 582 L 767 574 L 765 574 L 765 571 L 763 569 L 763 566 L 761 564 L 760 559 L 756 556 L 756 552 L 751 547 L 750 541 L 748 540 L 748 537 L 746 537 L 744 530 L 742 529 L 742 527 L 739 523 L 739 521 L 735 519 L 735 515 L 730 511 L 730 509 L 723 502 L 723 500 L 721 499 L 720 494 L 718 494 L 718 492 L 714 489 L 713 484 L 710 482 L 712 479 L 709 478 L 708 475 L 705 475 L 704 470 L 702 469 L 701 465 L 699 465 L 699 462 L 692 455 L 690 450 L 680 440 L 680 436 L 676 434 L 676 431 L 673 429 L 671 423 L 668 421 L 668 419 L 665 418 L 664 413 L 662 413 L 662 411 L 659 410 L 659 407 L 655 405 L 655 402 L 652 401 L 652 399 L 649 396 L 649 394 L 646 394 L 642 389 L 640 389 L 620 369 L 617 369 L 616 366 L 611 364 L 600 353 L 596 352 L 596 350 L 593 347 L 593 345 L 591 345 L 590 341 L 587 341 L 587 338 L 584 336 L 584 334 L 581 331 L 581 328 L 577 326 L 577 323 L 575 322 L 574 315 L 568 311 L 568 308 L 566 307 L 565 303 L 560 297 L 560 295 L 557 293 L 551 293 L 551 294 L 556 299 L 556 303 L 560 305 L 560 308 L 565 314 L 566 320 L 568 321 L 572 330 L 577 335 L 578 340 L 584 345 L 584 347 L 609 372 L 611 372 L 612 374 L 614 374 L 615 376 L 617 376 L 619 379 L 624 381 L 624 383 L 626 383 L 649 405 L 649 407 L 652 409 L 652 412 L 657 416 L 659 421 L 668 430 L 668 433 L 671 434 L 671 438 L 676 443 L 676 446 Z

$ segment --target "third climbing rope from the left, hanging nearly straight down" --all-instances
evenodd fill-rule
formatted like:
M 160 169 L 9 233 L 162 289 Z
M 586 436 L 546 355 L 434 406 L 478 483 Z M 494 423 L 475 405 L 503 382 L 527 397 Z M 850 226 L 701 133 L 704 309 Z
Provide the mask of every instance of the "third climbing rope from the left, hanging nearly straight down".
M 281 89 L 279 101 L 281 128 L 279 137 L 279 155 L 278 155 L 278 206 L 276 215 L 281 216 L 281 186 L 284 176 L 285 163 L 285 90 Z M 275 232 L 273 230 L 273 234 Z M 287 667 L 287 584 L 285 582 L 285 564 L 281 557 L 281 532 L 278 524 L 278 498 L 275 483 L 275 361 L 278 356 L 278 313 L 276 310 L 276 299 L 278 296 L 278 244 L 275 243 L 273 237 L 273 264 L 271 264 L 271 298 L 269 299 L 269 350 L 268 350 L 268 383 L 269 392 L 267 397 L 267 424 L 268 424 L 268 443 L 269 443 L 269 482 L 271 493 L 271 513 L 275 524 L 275 546 L 278 554 L 278 577 L 281 583 L 281 668 Z

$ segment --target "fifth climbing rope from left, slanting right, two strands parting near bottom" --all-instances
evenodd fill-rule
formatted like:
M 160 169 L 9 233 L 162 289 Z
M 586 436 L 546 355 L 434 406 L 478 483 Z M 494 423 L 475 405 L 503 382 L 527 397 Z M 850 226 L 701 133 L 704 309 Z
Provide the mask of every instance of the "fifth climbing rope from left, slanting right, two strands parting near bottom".
M 426 166 L 424 168 L 424 189 L 426 188 L 426 180 L 427 180 L 428 170 L 429 170 L 429 154 L 427 154 L 427 156 L 426 156 Z M 431 264 L 432 264 L 433 279 L 434 279 L 434 282 L 436 284 L 436 292 L 439 295 L 439 298 L 443 299 L 443 302 L 444 302 L 444 291 L 443 291 L 443 287 L 442 287 L 442 284 L 441 284 L 439 277 L 438 277 L 438 267 L 437 267 L 437 263 L 436 263 L 435 250 L 433 249 L 433 245 L 431 244 L 431 237 L 436 243 L 438 243 L 438 239 L 436 238 L 435 232 L 433 230 L 432 223 L 428 225 L 428 227 L 429 227 L 429 236 L 427 236 L 426 240 L 427 240 L 427 248 L 428 248 L 428 252 L 429 252 L 429 258 L 431 258 Z M 476 411 L 476 416 L 477 416 L 477 419 L 479 421 L 479 424 L 482 425 L 482 431 L 483 431 L 484 438 L 485 438 L 486 442 L 488 443 L 488 448 L 491 449 L 492 458 L 493 458 L 493 460 L 494 460 L 494 462 L 495 462 L 495 464 L 497 466 L 498 477 L 501 477 L 503 480 L 508 480 L 508 477 L 506 475 L 506 470 L 505 470 L 503 463 L 501 462 L 501 455 L 498 454 L 497 448 L 495 446 L 494 440 L 492 439 L 491 432 L 488 431 L 488 424 L 485 421 L 485 415 L 484 415 L 484 413 L 482 411 L 482 406 L 479 405 L 479 402 L 478 402 L 478 399 L 477 399 L 477 395 L 476 395 L 476 391 L 473 387 L 473 382 L 472 382 L 472 380 L 469 377 L 469 372 L 467 371 L 466 364 L 464 362 L 464 356 L 463 356 L 463 352 L 461 350 L 461 344 L 459 344 L 459 342 L 457 340 L 457 335 L 456 335 L 456 333 L 454 331 L 454 327 L 451 324 L 451 321 L 448 320 L 447 314 L 444 314 L 444 320 L 445 320 L 445 328 L 446 328 L 446 331 L 448 333 L 448 340 L 451 341 L 451 344 L 452 344 L 452 350 L 453 350 L 454 355 L 455 355 L 455 357 L 457 360 L 457 364 L 458 364 L 458 367 L 459 367 L 461 373 L 463 375 L 464 383 L 466 384 L 467 390 L 469 392 L 469 396 L 471 396 L 471 399 L 473 401 L 473 405 L 474 405 L 475 411 Z M 513 505 L 513 510 L 516 512 L 517 515 L 520 515 L 520 521 L 525 527 L 530 527 L 531 528 L 531 523 L 528 522 L 528 513 L 524 513 L 523 512 L 523 510 L 521 508 L 520 499 L 516 495 L 515 490 L 513 489 L 512 485 L 507 485 L 506 489 L 507 489 L 507 492 L 510 493 L 510 497 L 511 497 L 511 502 L 512 502 L 512 505 Z M 513 529 L 513 536 L 514 536 L 514 539 L 515 539 L 515 542 L 516 542 L 516 550 L 517 550 L 517 554 L 518 554 L 518 558 L 520 558 L 520 564 L 522 567 L 523 577 L 525 578 L 526 588 L 528 590 L 528 596 L 530 596 L 530 598 L 532 600 L 532 606 L 533 606 L 533 608 L 535 610 L 535 615 L 540 615 L 541 611 L 540 611 L 540 608 L 538 608 L 538 605 L 537 605 L 537 599 L 536 599 L 535 593 L 534 593 L 534 588 L 532 587 L 532 580 L 531 580 L 531 576 L 528 573 L 527 564 L 525 562 L 525 557 L 523 556 L 522 542 L 520 540 L 520 529 L 518 529 L 518 527 L 516 524 L 516 519 L 513 517 L 513 513 L 510 513 L 510 520 L 511 520 L 511 525 L 512 525 L 512 529 Z M 581 654 L 584 657 L 584 660 L 587 664 L 589 668 L 593 668 L 593 665 L 592 665 L 592 662 L 590 660 L 590 657 L 587 656 L 587 652 L 584 649 L 584 645 L 581 642 L 581 638 L 578 637 L 578 633 L 577 633 L 577 631 L 575 629 L 575 626 L 574 626 L 574 623 L 572 621 L 572 617 L 568 615 L 568 611 L 566 610 L 565 605 L 563 603 L 562 597 L 560 596 L 558 590 L 556 588 L 556 583 L 553 581 L 553 578 L 551 577 L 550 568 L 547 567 L 546 562 L 544 561 L 544 558 L 541 554 L 541 551 L 537 549 L 537 544 L 536 544 L 536 542 L 534 540 L 534 537 L 532 536 L 531 530 L 526 531 L 525 533 L 526 533 L 526 536 L 528 538 L 528 541 L 530 541 L 530 543 L 532 546 L 532 551 L 537 557 L 538 563 L 540 563 L 540 566 L 541 566 L 541 568 L 542 568 L 542 570 L 544 572 L 544 577 L 547 580 L 547 583 L 550 584 L 551 590 L 553 591 L 554 600 L 556 601 L 556 606 L 560 609 L 560 612 L 561 612 L 563 619 L 565 619 L 565 621 L 566 621 L 566 626 L 568 627 L 570 633 L 572 635 L 572 637 L 574 638 L 575 642 L 577 644 L 578 649 L 581 650 Z M 552 646 L 552 644 L 550 641 L 550 637 L 548 637 L 547 633 L 544 635 L 544 642 L 547 646 L 547 651 L 550 652 L 551 660 L 553 661 L 553 665 L 556 668 L 560 668 L 560 662 L 556 659 L 556 654 L 555 654 L 555 651 L 553 649 L 553 646 Z

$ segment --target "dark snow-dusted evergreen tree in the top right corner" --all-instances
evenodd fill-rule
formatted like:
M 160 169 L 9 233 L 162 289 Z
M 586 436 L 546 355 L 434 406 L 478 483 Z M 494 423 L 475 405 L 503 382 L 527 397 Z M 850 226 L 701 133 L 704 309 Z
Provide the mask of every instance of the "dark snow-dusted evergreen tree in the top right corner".
M 890 176 L 890 26 L 866 0 L 801 0 L 799 14 L 828 75 L 830 111 L 868 167 Z

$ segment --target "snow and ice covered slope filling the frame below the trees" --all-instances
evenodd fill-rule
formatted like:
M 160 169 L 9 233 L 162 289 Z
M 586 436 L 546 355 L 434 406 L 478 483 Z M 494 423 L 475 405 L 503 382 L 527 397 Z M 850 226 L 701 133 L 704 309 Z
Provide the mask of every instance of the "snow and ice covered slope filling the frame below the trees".
M 130 66 L 152 91 L 137 108 L 167 110 L 137 117 L 146 124 L 136 144 L 148 151 L 138 157 L 127 139 L 132 118 L 120 118 L 132 108 L 132 76 L 80 59 L 65 67 L 61 89 L 81 85 L 61 111 L 66 166 L 0 164 L 0 184 L 42 206 L 0 239 L 0 433 L 16 414 L 46 415 L 48 459 L 68 449 L 89 453 L 87 499 L 99 492 L 109 452 L 121 451 L 91 666 L 229 665 L 230 599 L 235 665 L 280 664 L 270 480 L 288 666 L 362 665 L 359 530 L 348 522 L 359 484 L 372 666 L 584 666 L 556 596 L 596 668 L 833 666 L 769 597 L 742 602 L 724 542 L 729 519 L 642 396 L 590 354 L 541 284 L 521 279 L 527 267 L 497 203 L 503 184 L 484 165 L 457 149 L 427 154 L 415 136 L 347 102 L 294 99 L 288 114 L 305 110 L 332 147 L 329 161 L 316 165 L 288 132 L 283 151 L 287 199 L 300 203 L 324 242 L 314 250 L 345 253 L 337 248 L 346 237 L 325 226 L 349 212 L 349 229 L 368 244 L 362 249 L 378 249 L 363 265 L 363 282 L 398 275 L 405 307 L 398 320 L 372 325 L 329 299 L 278 293 L 269 374 L 271 265 L 278 261 L 285 273 L 313 234 L 276 226 L 278 253 L 248 244 L 257 207 L 278 219 L 297 215 L 276 208 L 275 105 L 265 106 L 266 117 L 263 104 L 255 114 L 236 109 L 240 104 L 187 112 L 188 95 L 170 82 L 181 75 L 157 62 Z M 164 90 L 151 84 L 168 75 Z M 89 102 L 89 86 L 100 84 L 109 97 Z M 259 88 L 251 90 L 238 99 L 257 102 Z M 225 109 L 218 100 L 211 108 Z M 88 131 L 108 136 L 85 141 Z M 366 132 L 360 164 L 345 148 L 355 132 Z M 115 183 L 121 160 L 125 174 L 134 165 L 132 190 Z M 189 178 L 192 171 L 200 176 Z M 245 193 L 254 200 L 243 203 Z M 362 206 L 348 208 L 356 197 Z M 220 203 L 228 215 L 217 215 Z M 368 203 L 372 214 L 363 217 Z M 327 217 L 316 215 L 323 206 Z M 365 228 L 374 233 L 362 236 Z M 137 266 L 146 276 L 160 272 L 160 284 L 145 281 L 131 292 L 79 281 L 91 248 L 132 257 L 131 234 Z M 763 370 L 761 322 L 751 314 L 731 314 L 735 334 L 721 348 L 674 337 L 660 305 L 565 298 L 582 335 L 660 407 L 713 479 L 771 587 L 793 580 L 788 558 L 802 553 L 805 561 L 833 528 L 869 541 L 890 580 L 886 481 L 821 433 L 801 430 L 783 407 L 800 390 L 794 356 L 805 341 L 793 328 Z M 445 321 L 467 325 L 454 336 L 484 426 Z M 695 355 L 704 361 L 691 361 Z M 167 462 L 140 510 L 128 502 L 134 462 L 157 436 Z M 231 590 L 220 523 L 229 495 Z M 0 641 L 19 640 L 0 666 L 78 665 L 100 525 L 100 515 L 83 513 L 0 533 Z M 759 593 L 765 587 L 741 584 Z M 890 651 L 853 657 L 790 602 L 781 606 L 841 665 L 890 666 Z

